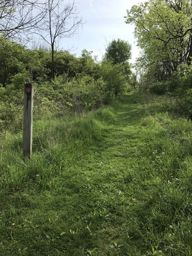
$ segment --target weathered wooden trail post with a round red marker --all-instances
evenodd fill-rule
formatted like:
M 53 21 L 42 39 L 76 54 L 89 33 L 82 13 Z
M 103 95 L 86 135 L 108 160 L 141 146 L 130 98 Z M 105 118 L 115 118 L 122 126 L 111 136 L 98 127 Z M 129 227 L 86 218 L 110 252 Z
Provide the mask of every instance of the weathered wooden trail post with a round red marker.
M 30 158 L 32 154 L 33 99 L 34 85 L 25 84 L 23 107 L 23 158 Z

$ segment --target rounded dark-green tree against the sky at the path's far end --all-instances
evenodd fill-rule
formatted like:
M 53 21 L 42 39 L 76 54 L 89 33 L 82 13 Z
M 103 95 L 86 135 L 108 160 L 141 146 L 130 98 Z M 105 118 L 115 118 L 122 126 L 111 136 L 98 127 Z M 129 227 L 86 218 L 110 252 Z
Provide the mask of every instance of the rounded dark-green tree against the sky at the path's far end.
M 113 40 L 108 44 L 104 58 L 112 61 L 113 64 L 125 64 L 131 58 L 131 45 L 128 41 L 119 38 Z

